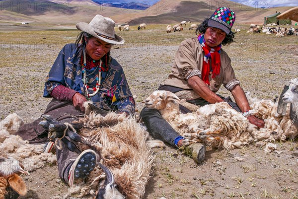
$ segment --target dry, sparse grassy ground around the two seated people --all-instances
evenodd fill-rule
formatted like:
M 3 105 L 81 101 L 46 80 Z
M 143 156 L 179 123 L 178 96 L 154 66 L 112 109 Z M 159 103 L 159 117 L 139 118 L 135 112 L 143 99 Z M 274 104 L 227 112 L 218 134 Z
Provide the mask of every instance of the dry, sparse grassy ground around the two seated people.
M 253 97 L 274 99 L 298 76 L 298 37 L 246 33 L 247 25 L 234 26 L 241 32 L 224 50 L 241 86 Z M 126 44 L 114 46 L 112 56 L 125 70 L 139 112 L 142 101 L 170 72 L 179 43 L 195 36 L 187 28 L 167 34 L 165 27 L 149 25 L 138 31 L 132 26 L 131 31 L 117 32 Z M 1 119 L 15 112 L 32 122 L 42 114 L 50 100 L 42 98 L 45 77 L 60 49 L 73 43 L 77 34 L 75 30 L 0 33 Z M 224 89 L 220 94 L 229 95 Z M 283 150 L 280 155 L 266 155 L 254 144 L 231 151 L 209 149 L 201 165 L 174 148 L 156 149 L 145 199 L 298 199 L 297 139 L 277 144 Z M 236 156 L 244 160 L 239 162 Z M 60 199 L 67 194 L 55 165 L 24 178 L 29 189 L 25 198 Z

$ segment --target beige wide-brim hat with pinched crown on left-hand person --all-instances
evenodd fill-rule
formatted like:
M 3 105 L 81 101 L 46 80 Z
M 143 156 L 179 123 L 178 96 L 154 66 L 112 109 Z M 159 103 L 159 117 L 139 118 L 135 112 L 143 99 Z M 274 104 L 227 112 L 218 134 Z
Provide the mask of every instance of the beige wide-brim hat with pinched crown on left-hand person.
M 103 40 L 110 44 L 123 44 L 124 39 L 115 34 L 115 22 L 108 17 L 97 14 L 90 23 L 79 22 L 76 28 L 86 32 L 95 38 Z

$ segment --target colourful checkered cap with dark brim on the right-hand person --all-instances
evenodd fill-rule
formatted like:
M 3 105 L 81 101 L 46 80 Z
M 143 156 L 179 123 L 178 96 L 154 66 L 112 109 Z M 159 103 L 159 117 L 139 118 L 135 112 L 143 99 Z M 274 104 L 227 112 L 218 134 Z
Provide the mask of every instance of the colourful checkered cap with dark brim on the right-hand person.
M 233 10 L 228 7 L 219 7 L 214 14 L 209 18 L 208 26 L 223 30 L 229 34 L 235 22 L 236 15 Z

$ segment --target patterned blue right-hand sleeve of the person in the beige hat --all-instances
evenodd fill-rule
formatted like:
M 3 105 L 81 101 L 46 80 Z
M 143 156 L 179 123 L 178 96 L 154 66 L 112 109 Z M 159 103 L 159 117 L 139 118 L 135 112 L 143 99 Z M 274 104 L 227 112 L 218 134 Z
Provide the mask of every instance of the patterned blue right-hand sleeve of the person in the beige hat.
M 117 112 L 126 112 L 129 115 L 134 114 L 136 110 L 136 102 L 133 94 L 128 86 L 123 69 L 120 69 L 119 78 L 117 80 L 116 91 L 112 98 L 112 106 Z

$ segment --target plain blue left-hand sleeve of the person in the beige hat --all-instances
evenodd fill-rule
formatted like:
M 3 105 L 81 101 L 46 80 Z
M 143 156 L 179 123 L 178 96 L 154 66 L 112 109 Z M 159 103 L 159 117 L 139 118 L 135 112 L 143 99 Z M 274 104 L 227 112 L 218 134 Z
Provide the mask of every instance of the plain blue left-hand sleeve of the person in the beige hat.
M 58 54 L 58 57 L 56 58 L 52 68 L 50 69 L 48 76 L 46 77 L 43 97 L 51 97 L 51 92 L 55 87 L 59 85 L 65 86 L 65 81 L 64 81 L 64 70 L 65 70 L 65 62 L 66 62 L 65 48 L 66 46 Z

